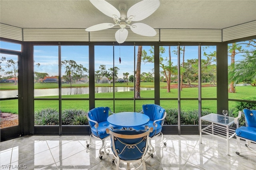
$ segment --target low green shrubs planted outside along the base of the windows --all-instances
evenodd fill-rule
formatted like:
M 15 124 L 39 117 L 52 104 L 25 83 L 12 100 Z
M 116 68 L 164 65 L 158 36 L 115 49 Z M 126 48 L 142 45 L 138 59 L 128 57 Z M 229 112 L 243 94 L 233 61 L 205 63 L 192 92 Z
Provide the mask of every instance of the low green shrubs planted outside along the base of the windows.
M 253 98 L 253 97 L 252 97 Z M 256 98 L 254 98 L 256 100 Z M 238 111 L 241 108 L 256 109 L 256 103 L 237 102 L 237 107 L 230 109 L 228 115 L 230 117 L 237 117 Z M 244 107 L 248 106 L 248 107 Z M 139 111 L 140 112 L 140 111 Z M 166 118 L 164 125 L 178 125 L 178 109 L 166 109 Z M 202 109 L 201 115 L 208 115 L 212 113 L 208 109 Z M 244 115 L 240 118 L 240 126 L 245 125 Z M 180 113 L 181 125 L 199 125 L 198 110 L 182 111 Z M 203 123 L 206 124 L 206 123 Z M 59 125 L 59 113 L 56 109 L 47 108 L 37 111 L 35 113 L 35 125 Z M 62 111 L 62 125 L 88 125 L 86 112 L 82 109 L 65 109 Z

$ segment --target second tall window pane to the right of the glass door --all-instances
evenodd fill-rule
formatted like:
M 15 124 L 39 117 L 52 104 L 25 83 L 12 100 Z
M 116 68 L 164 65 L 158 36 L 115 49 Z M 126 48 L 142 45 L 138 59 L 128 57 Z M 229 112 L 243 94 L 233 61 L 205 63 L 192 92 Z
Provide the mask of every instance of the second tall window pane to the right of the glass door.
M 88 125 L 88 55 L 88 46 L 61 45 L 62 125 Z

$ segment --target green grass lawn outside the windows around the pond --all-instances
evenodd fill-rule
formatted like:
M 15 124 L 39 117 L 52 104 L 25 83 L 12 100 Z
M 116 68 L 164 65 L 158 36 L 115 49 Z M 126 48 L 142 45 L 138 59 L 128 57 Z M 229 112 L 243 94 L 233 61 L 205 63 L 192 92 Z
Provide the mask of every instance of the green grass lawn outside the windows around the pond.
M 154 83 L 150 82 L 141 82 L 141 87 L 154 87 Z M 107 83 L 106 83 L 107 84 Z M 100 85 L 106 85 L 100 84 Z M 123 87 L 127 87 L 126 83 L 116 83 L 118 85 L 122 85 Z M 55 84 L 35 84 L 35 87 L 39 89 L 40 85 L 44 88 L 46 87 L 54 87 Z M 108 84 L 109 85 L 109 84 Z M 128 83 L 128 85 L 133 85 L 133 83 Z M 166 83 L 160 83 L 161 87 L 165 87 Z M 12 87 L 12 85 L 6 85 Z M 13 85 L 14 86 L 14 85 Z M 2 85 L 1 85 L 2 87 Z M 117 87 L 117 86 L 116 86 Z M 120 86 L 119 86 L 120 87 Z M 237 93 L 229 93 L 229 99 L 243 99 L 244 97 L 254 97 L 256 96 L 256 87 L 252 86 L 237 86 L 236 87 Z M 183 88 L 181 91 L 181 98 L 198 98 L 198 88 Z M 116 92 L 115 98 L 133 98 L 134 92 Z M 96 93 L 96 98 L 109 98 L 110 101 L 106 100 L 97 100 L 95 101 L 96 107 L 99 106 L 108 106 L 112 110 L 114 110 L 114 102 L 111 100 L 113 99 L 113 93 Z M 154 98 L 154 90 L 151 91 L 141 91 L 142 99 L 146 98 Z M 202 97 L 203 98 L 216 98 L 216 87 L 202 87 Z M 42 97 L 40 97 L 42 98 Z M 44 98 L 58 98 L 58 96 L 47 96 Z M 88 99 L 89 95 L 64 95 L 62 98 L 85 98 Z M 178 98 L 178 89 L 171 89 L 170 93 L 166 92 L 166 89 L 160 89 L 160 98 Z M 154 100 L 137 100 L 135 105 L 135 110 L 140 111 L 143 104 L 147 103 L 154 103 Z M 166 109 L 168 108 L 178 108 L 178 101 L 177 100 L 161 100 L 160 105 Z M 216 101 L 202 101 L 202 109 L 208 109 L 212 113 L 216 113 L 217 109 Z M 230 103 L 229 108 L 234 107 L 235 102 Z M 5 100 L 0 101 L 1 111 L 8 112 L 8 113 L 18 113 L 18 101 L 16 100 Z M 45 108 L 55 108 L 58 109 L 58 101 L 35 101 L 35 111 L 45 109 Z M 62 101 L 62 109 L 83 109 L 88 111 L 89 109 L 89 101 Z M 115 112 L 121 111 L 133 111 L 134 109 L 134 101 L 133 100 L 116 100 L 115 101 Z M 198 100 L 188 101 L 182 100 L 181 101 L 181 109 L 186 110 L 198 110 Z

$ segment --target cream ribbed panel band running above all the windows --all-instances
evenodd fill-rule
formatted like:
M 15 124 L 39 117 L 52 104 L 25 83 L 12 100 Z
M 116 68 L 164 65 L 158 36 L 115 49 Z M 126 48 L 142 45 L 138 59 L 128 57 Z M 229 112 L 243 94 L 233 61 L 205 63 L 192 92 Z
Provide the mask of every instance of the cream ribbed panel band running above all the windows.
M 19 41 L 48 42 L 116 42 L 118 29 L 86 32 L 84 29 L 31 29 L 0 24 L 0 37 Z M 256 36 L 256 21 L 223 30 L 210 29 L 156 29 L 154 37 L 140 36 L 128 29 L 126 42 L 225 42 Z

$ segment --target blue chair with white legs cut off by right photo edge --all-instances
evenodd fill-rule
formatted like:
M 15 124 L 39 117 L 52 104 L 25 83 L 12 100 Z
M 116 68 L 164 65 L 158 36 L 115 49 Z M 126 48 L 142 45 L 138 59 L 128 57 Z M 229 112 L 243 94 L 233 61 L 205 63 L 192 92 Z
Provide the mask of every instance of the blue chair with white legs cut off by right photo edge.
M 238 150 L 236 154 L 241 152 L 255 152 L 252 148 L 249 147 L 251 142 L 256 142 L 256 110 L 243 109 L 243 112 L 239 111 L 239 115 L 244 114 L 246 127 L 239 127 L 236 129 L 236 143 L 238 145 Z M 238 116 L 239 117 L 239 116 Z M 245 146 L 250 150 L 241 151 L 240 139 L 246 141 Z

